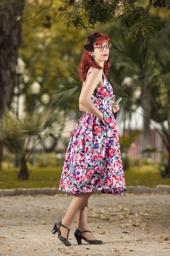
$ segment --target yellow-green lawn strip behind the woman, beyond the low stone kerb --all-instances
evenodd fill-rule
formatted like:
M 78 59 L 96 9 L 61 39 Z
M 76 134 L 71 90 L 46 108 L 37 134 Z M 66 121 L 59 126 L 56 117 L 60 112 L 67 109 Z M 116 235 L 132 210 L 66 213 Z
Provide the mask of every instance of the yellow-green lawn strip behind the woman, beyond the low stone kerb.
M 3 162 L 3 169 L 0 171 L 0 189 L 13 188 L 43 188 L 43 187 L 59 187 L 63 166 L 34 167 L 28 164 L 31 170 L 29 180 L 17 180 L 17 172 L 19 168 L 13 168 L 13 164 L 9 163 L 10 169 L 6 172 L 8 164 Z M 3 177 L 6 174 L 5 181 Z M 156 164 L 130 166 L 124 171 L 126 186 L 150 186 L 170 185 L 170 178 L 161 178 L 159 169 Z

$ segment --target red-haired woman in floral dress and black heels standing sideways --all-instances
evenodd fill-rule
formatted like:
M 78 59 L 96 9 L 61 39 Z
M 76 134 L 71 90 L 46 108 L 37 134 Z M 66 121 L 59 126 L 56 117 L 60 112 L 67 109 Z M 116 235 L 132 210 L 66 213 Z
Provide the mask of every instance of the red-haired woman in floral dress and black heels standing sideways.
M 74 194 L 61 221 L 54 224 L 63 244 L 70 246 L 68 234 L 77 216 L 74 236 L 78 244 L 84 239 L 89 244 L 102 244 L 88 230 L 88 198 L 96 190 L 112 195 L 124 195 L 125 179 L 119 148 L 119 137 L 113 113 L 120 105 L 111 103 L 113 89 L 107 80 L 111 62 L 108 59 L 111 44 L 105 34 L 88 36 L 79 72 L 82 91 L 79 109 L 85 113 L 74 128 L 65 156 L 59 190 Z

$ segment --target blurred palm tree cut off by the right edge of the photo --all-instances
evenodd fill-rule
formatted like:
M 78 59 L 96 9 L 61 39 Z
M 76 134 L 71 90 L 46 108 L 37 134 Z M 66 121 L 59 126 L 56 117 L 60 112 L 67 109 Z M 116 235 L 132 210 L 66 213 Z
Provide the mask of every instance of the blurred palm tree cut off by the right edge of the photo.
M 162 177 L 170 178 L 170 40 L 166 41 L 166 47 L 158 49 L 157 45 L 153 47 L 156 63 L 159 69 L 156 70 L 156 89 L 158 96 L 154 98 L 153 94 L 153 118 L 161 125 L 159 132 L 162 141 L 167 148 L 168 160 L 164 163 L 164 169 L 161 169 Z

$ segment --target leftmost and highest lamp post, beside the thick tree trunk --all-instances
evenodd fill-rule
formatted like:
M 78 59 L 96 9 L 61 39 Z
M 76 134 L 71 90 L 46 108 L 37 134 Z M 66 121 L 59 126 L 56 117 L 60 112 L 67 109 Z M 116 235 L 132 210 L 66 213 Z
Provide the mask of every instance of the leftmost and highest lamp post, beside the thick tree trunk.
M 26 69 L 26 63 L 23 61 L 22 58 L 17 58 L 17 65 L 15 66 L 15 72 L 17 74 L 17 109 L 16 115 L 18 117 L 19 113 L 19 98 L 20 98 L 20 76 L 23 75 Z M 15 155 L 14 159 L 14 167 L 20 166 L 18 156 Z

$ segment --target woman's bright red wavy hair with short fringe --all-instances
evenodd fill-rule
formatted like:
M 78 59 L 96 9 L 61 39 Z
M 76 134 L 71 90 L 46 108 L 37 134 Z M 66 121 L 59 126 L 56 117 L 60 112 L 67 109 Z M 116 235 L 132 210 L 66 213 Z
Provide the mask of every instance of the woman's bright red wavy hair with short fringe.
M 95 36 L 95 38 L 96 38 L 95 44 L 96 45 L 101 45 L 104 42 L 109 43 L 109 41 L 110 41 L 110 38 L 106 34 L 101 34 L 99 32 L 93 32 L 90 35 Z M 89 44 L 88 39 L 87 39 L 86 44 Z M 90 67 L 97 67 L 100 70 L 102 69 L 102 67 L 100 65 L 96 64 L 96 62 L 94 61 L 94 58 L 90 55 L 90 52 L 85 49 L 85 51 L 82 55 L 80 65 L 79 65 L 79 76 L 81 78 L 81 81 L 86 80 L 87 72 Z M 108 58 L 108 60 L 105 61 L 104 67 L 103 67 L 103 72 L 106 77 L 108 76 L 108 71 L 109 71 L 110 67 L 111 67 L 111 61 Z

